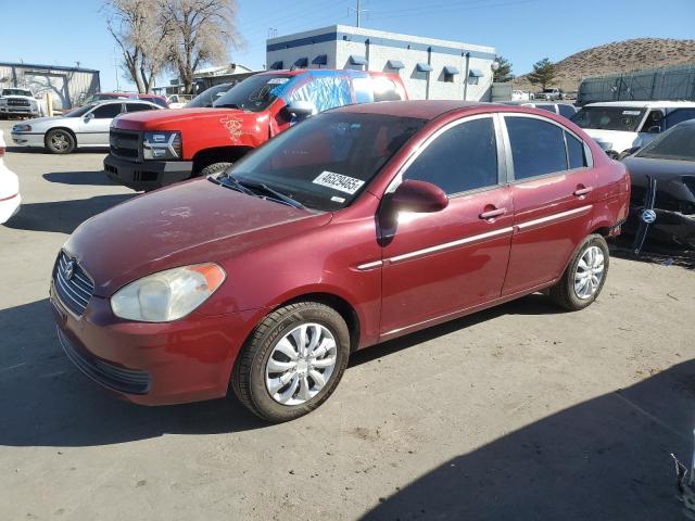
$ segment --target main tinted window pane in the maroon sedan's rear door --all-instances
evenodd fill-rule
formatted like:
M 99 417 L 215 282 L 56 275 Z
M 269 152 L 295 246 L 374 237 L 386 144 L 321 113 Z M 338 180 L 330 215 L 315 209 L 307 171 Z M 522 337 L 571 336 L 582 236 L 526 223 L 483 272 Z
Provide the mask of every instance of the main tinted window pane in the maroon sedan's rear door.
M 515 179 L 567 169 L 563 129 L 530 117 L 505 117 Z

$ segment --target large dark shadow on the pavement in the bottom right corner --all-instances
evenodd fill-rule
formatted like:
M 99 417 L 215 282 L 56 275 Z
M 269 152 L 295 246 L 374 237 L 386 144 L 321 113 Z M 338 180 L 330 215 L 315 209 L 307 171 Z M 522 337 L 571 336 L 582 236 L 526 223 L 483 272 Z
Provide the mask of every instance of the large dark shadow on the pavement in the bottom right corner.
M 685 519 L 669 453 L 690 459 L 693 425 L 690 360 L 446 461 L 363 519 Z

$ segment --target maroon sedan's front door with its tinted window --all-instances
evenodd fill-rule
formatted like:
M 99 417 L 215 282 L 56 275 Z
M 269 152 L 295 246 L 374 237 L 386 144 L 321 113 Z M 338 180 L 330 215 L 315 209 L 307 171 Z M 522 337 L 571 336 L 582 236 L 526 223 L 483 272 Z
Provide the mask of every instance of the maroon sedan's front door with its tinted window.
M 514 208 L 496 132 L 491 115 L 455 122 L 404 168 L 402 179 L 437 185 L 450 204 L 382 230 L 382 338 L 500 296 Z

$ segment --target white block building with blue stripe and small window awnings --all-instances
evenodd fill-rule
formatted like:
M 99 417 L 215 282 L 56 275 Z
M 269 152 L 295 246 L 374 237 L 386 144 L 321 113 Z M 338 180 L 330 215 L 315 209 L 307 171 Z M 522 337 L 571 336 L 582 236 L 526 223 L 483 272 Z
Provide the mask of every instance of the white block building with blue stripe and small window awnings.
M 495 49 L 332 25 L 270 38 L 267 68 L 356 68 L 395 73 L 412 99 L 488 101 Z

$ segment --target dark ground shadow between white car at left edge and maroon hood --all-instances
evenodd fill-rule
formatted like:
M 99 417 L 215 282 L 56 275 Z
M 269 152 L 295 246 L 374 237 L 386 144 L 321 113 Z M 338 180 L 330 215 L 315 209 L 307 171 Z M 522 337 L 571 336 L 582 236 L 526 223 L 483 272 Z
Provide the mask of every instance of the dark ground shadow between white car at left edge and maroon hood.
M 4 224 L 7 228 L 72 233 L 88 218 L 137 195 L 99 195 L 90 199 L 23 204 L 20 213 Z

